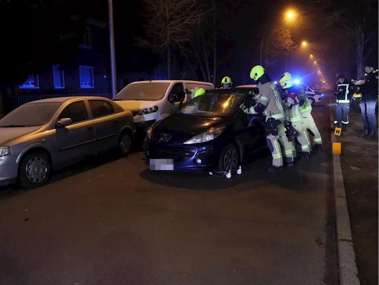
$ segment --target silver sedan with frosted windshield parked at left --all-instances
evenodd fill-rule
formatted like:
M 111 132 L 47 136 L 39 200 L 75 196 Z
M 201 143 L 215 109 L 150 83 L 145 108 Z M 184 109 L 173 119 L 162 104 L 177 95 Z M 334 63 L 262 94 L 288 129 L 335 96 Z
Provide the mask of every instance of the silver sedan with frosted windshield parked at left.
M 132 112 L 102 97 L 61 97 L 26 103 L 0 120 L 0 185 L 34 188 L 86 155 L 131 150 Z

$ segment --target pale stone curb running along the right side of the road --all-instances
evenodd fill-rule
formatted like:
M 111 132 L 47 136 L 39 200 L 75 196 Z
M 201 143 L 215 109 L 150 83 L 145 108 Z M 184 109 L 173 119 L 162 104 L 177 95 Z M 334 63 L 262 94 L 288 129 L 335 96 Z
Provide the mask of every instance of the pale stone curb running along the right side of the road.
M 329 97 L 330 122 L 333 125 L 333 110 Z M 332 144 L 336 143 L 334 133 L 330 135 Z M 336 238 L 338 251 L 338 277 L 340 285 L 360 285 L 355 262 L 353 239 L 351 235 L 348 204 L 346 202 L 345 183 L 341 169 L 340 155 L 333 155 L 333 182 L 335 201 Z

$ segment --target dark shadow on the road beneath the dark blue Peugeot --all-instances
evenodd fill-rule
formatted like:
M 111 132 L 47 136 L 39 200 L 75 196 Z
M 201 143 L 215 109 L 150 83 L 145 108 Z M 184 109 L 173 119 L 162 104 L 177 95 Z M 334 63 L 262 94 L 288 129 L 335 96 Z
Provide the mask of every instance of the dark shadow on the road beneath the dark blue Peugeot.
M 307 161 L 300 161 L 299 165 L 304 163 L 307 163 Z M 268 156 L 267 152 L 261 152 L 260 155 L 256 155 L 242 164 L 241 175 L 234 172 L 230 179 L 211 176 L 208 173 L 192 174 L 171 171 L 150 171 L 149 169 L 141 171 L 139 176 L 158 185 L 198 191 L 224 190 L 244 183 L 250 183 L 249 187 L 253 190 L 255 187 L 254 183 L 258 180 L 260 181 L 260 186 L 262 186 L 263 181 L 267 186 L 275 184 L 288 190 L 306 190 L 309 180 L 307 175 L 299 172 L 301 168 L 285 168 L 281 172 L 268 173 L 267 168 L 270 164 L 271 156 Z

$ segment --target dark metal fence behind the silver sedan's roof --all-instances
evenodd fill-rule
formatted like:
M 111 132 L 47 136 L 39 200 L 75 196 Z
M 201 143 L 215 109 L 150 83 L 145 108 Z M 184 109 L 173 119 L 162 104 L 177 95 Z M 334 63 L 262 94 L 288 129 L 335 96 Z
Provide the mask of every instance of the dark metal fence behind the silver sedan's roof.
M 50 99 L 50 98 L 58 98 L 58 97 L 72 97 L 72 96 L 96 96 L 96 97 L 105 97 L 108 99 L 113 99 L 112 93 L 4 96 L 3 97 L 4 113 L 8 114 L 10 111 L 28 102 L 33 102 L 33 101 L 42 100 L 42 99 Z

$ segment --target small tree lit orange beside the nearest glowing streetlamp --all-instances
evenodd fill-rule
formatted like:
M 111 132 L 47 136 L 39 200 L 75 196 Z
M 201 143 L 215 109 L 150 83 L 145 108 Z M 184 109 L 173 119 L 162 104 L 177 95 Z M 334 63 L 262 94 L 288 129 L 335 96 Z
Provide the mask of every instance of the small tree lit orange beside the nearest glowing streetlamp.
M 266 58 L 277 58 L 280 56 L 286 57 L 287 71 L 287 60 L 288 56 L 293 53 L 298 48 L 298 45 L 291 38 L 291 31 L 288 29 L 275 29 L 269 34 L 266 45 L 265 53 Z

